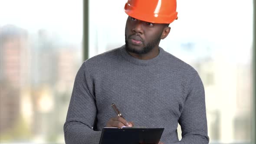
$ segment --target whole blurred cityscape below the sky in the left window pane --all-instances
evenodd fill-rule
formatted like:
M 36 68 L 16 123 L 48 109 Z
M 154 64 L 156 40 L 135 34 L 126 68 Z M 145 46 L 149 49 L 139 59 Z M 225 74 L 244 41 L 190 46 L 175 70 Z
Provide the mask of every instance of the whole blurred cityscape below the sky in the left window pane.
M 44 29 L 0 27 L 0 137 L 63 142 L 81 46 Z

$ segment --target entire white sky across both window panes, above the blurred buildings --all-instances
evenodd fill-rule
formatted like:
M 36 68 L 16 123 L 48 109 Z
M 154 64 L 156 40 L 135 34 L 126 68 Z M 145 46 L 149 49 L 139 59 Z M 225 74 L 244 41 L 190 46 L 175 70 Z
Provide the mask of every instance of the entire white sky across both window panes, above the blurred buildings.
M 107 36 L 113 43 L 124 43 L 124 27 L 127 15 L 124 6 L 127 0 L 90 0 L 91 33 L 104 33 L 106 29 L 119 28 L 115 35 Z M 36 32 L 38 29 L 64 36 L 63 40 L 77 42 L 82 31 L 82 0 L 0 0 L 0 26 L 16 26 Z M 199 6 L 199 7 L 198 7 Z M 106 11 L 107 10 L 107 11 Z M 177 0 L 178 20 L 171 24 L 171 33 L 161 44 L 172 41 L 205 41 L 216 43 L 223 52 L 230 51 L 231 61 L 241 57 L 250 61 L 253 41 L 253 0 Z M 251 13 L 248 15 L 248 13 Z M 119 23 L 116 22 L 118 19 Z M 63 23 L 63 21 L 65 23 Z M 104 27 L 104 23 L 113 23 Z M 74 27 L 70 28 L 70 24 Z M 121 25 L 121 26 L 120 26 Z M 92 28 L 92 29 L 91 29 Z M 175 43 L 172 43 L 172 47 Z M 241 62 L 241 60 L 240 60 Z

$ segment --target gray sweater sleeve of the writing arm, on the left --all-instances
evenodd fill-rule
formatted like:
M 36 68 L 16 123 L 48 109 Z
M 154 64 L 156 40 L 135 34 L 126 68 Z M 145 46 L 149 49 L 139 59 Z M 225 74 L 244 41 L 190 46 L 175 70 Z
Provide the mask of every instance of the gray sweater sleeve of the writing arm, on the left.
M 97 115 L 93 83 L 86 75 L 85 62 L 77 72 L 64 124 L 66 144 L 98 144 L 101 131 L 94 131 Z

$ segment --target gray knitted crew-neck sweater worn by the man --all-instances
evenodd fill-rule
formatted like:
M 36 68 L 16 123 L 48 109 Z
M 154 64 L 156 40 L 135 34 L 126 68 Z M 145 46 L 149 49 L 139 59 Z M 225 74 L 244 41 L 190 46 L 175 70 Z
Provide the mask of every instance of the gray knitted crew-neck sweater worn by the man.
M 164 128 L 164 144 L 209 143 L 199 75 L 159 49 L 158 56 L 150 60 L 136 59 L 122 46 L 83 62 L 64 124 L 66 144 L 98 144 L 102 128 L 116 116 L 112 103 L 135 126 Z

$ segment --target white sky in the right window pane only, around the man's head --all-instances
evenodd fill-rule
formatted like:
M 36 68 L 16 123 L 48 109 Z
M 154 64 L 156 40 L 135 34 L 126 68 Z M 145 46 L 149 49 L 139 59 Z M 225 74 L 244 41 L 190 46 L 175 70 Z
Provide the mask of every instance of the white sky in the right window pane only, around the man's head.
M 99 47 L 105 46 L 105 43 L 123 45 L 127 19 L 123 9 L 127 0 L 89 2 L 90 47 L 95 45 L 95 37 L 102 39 Z M 201 45 L 196 46 L 198 50 L 190 52 L 191 56 L 197 57 L 195 55 L 201 55 L 206 46 L 214 44 L 212 47 L 217 53 L 229 55 L 227 61 L 251 61 L 253 0 L 177 0 L 177 12 L 178 20 L 171 23 L 169 36 L 160 43 L 164 49 L 170 48 L 169 52 L 183 55 L 180 43 L 198 43 Z M 95 52 L 91 51 L 90 55 L 94 56 Z

